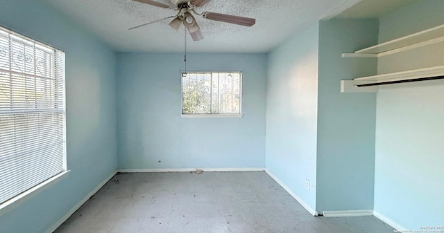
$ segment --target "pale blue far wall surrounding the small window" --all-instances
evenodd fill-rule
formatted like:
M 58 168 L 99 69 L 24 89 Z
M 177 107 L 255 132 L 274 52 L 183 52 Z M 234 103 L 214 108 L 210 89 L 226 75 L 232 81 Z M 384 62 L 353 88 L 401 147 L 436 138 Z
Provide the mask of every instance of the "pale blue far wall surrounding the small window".
M 266 54 L 187 55 L 189 71 L 242 71 L 244 118 L 180 117 L 182 53 L 121 53 L 118 67 L 120 169 L 265 167 Z

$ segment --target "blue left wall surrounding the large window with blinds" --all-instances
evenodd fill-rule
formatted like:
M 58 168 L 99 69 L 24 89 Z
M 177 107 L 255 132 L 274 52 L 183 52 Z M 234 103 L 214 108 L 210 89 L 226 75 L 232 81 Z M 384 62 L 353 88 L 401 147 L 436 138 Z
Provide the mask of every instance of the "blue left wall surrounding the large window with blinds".
M 66 52 L 67 178 L 0 217 L 0 232 L 45 232 L 117 168 L 116 55 L 32 0 L 0 1 L 0 24 Z

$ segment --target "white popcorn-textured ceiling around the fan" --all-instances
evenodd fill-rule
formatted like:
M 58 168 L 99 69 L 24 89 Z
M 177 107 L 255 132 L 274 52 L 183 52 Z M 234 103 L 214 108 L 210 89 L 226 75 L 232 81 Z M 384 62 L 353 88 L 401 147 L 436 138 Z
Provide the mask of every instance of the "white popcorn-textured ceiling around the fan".
M 157 8 L 132 0 L 41 0 L 67 15 L 76 24 L 102 39 L 119 52 L 181 52 L 184 29 L 173 30 L 171 19 L 135 30 L 133 26 L 176 15 L 171 9 Z M 157 0 L 170 5 L 169 0 Z M 198 12 L 210 11 L 256 19 L 248 28 L 196 20 L 205 39 L 192 41 L 193 52 L 267 52 L 295 32 L 323 17 L 338 15 L 359 0 L 212 0 Z

